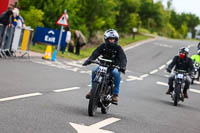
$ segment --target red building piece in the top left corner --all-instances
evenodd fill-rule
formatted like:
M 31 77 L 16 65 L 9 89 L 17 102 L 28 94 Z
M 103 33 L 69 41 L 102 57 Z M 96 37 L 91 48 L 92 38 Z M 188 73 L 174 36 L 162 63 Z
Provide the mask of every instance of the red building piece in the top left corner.
M 0 15 L 9 7 L 14 7 L 18 0 L 0 0 Z

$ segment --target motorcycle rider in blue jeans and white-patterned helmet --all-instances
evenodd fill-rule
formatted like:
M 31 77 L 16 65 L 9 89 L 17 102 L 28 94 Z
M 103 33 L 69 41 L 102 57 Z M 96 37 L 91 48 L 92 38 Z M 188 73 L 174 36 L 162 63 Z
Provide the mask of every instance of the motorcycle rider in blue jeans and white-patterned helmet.
M 115 103 L 118 102 L 118 94 L 119 94 L 119 87 L 120 87 L 120 72 L 125 74 L 126 64 L 127 64 L 126 55 L 123 49 L 121 48 L 121 46 L 118 45 L 118 40 L 119 40 L 119 35 L 116 30 L 114 29 L 106 30 L 104 33 L 105 43 L 97 47 L 96 50 L 92 53 L 92 55 L 83 63 L 83 66 L 89 65 L 91 63 L 91 60 L 95 60 L 100 55 L 102 55 L 103 58 L 112 60 L 115 65 L 120 67 L 119 70 L 115 68 L 112 71 L 112 75 L 114 77 L 114 91 L 113 91 L 112 100 Z M 95 72 L 97 70 L 98 70 L 98 67 L 96 67 L 92 71 L 92 84 L 95 78 Z M 91 95 L 91 92 L 89 92 L 86 95 L 86 98 L 89 99 L 90 95 Z

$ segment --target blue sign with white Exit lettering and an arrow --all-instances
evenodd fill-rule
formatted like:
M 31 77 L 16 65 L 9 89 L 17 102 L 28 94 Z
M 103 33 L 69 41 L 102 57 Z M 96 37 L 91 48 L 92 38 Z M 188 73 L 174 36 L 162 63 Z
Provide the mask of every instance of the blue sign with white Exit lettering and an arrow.
M 58 45 L 60 31 L 45 27 L 37 27 L 36 32 L 34 34 L 33 43 L 46 43 L 54 46 Z M 63 32 L 61 39 L 61 48 L 66 47 L 66 32 Z

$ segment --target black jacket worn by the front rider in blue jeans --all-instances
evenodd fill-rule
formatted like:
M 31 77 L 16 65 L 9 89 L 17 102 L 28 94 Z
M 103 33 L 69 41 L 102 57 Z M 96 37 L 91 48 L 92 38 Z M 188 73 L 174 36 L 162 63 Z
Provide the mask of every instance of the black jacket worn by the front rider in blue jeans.
M 95 60 L 100 55 L 105 59 L 112 60 L 115 65 L 126 70 L 127 58 L 120 45 L 115 44 L 109 47 L 109 45 L 103 43 L 92 53 L 89 60 Z

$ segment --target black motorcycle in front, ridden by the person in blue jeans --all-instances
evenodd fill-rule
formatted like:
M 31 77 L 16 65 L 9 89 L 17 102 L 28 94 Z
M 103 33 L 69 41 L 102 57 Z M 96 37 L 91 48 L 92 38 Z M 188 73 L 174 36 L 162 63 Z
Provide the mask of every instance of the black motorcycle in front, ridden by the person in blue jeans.
M 112 76 L 112 70 L 114 68 L 119 69 L 119 67 L 115 66 L 111 60 L 103 58 L 98 58 L 98 60 L 91 61 L 91 63 L 98 64 L 99 66 L 93 81 L 93 88 L 88 105 L 88 115 L 94 116 L 98 107 L 101 108 L 103 114 L 107 114 L 109 107 L 113 103 L 114 78 Z

